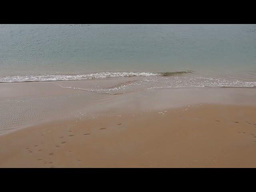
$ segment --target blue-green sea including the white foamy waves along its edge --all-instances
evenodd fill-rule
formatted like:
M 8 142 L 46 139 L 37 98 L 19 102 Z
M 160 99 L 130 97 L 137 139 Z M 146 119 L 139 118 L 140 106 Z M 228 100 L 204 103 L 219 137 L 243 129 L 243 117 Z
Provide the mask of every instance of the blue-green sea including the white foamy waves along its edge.
M 116 93 L 256 86 L 255 24 L 1 24 L 0 82 L 131 77 Z M 62 84 L 59 84 L 62 86 Z

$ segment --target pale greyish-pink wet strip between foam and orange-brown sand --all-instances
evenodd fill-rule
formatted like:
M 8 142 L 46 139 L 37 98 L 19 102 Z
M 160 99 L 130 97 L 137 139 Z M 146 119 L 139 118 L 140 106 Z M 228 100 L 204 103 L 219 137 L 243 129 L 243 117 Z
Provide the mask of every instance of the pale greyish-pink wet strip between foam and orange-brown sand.
M 105 86 L 116 84 L 115 80 L 96 81 Z M 94 84 L 93 80 L 90 82 Z M 8 133 L 8 130 L 13 132 L 33 124 L 72 119 L 81 113 L 86 115 L 83 116 L 86 119 L 88 115 L 110 110 L 161 110 L 193 104 L 256 106 L 254 87 L 178 87 L 147 89 L 127 94 L 105 94 L 69 87 L 83 86 L 87 80 L 63 83 L 67 87 L 53 82 L 24 82 L 22 86 L 16 83 L 0 84 L 0 135 Z

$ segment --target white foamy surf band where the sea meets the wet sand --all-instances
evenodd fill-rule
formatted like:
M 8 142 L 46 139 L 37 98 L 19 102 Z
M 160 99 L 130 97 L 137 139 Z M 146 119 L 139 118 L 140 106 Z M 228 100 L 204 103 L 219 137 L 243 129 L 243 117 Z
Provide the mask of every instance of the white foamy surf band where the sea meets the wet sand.
M 182 73 L 182 74 L 181 74 Z M 236 78 L 198 76 L 197 74 L 184 75 L 186 72 L 100 72 L 83 75 L 45 75 L 45 76 L 12 76 L 0 78 L 0 82 L 33 82 L 33 81 L 63 81 L 63 80 L 86 80 L 94 78 L 119 78 L 137 76 L 132 80 L 121 82 L 114 86 L 102 86 L 100 82 L 95 82 L 94 86 L 79 84 L 70 86 L 66 82 L 53 82 L 62 88 L 70 88 L 88 92 L 98 92 L 104 94 L 128 94 L 137 91 L 157 89 L 157 88 L 186 88 L 186 87 L 256 87 L 254 81 L 242 81 Z M 126 80 L 124 78 L 124 80 Z M 122 80 L 121 80 L 122 81 Z M 99 85 L 97 84 L 99 83 Z M 69 86 L 68 86 L 69 85 Z M 75 84 L 74 84 L 75 85 Z

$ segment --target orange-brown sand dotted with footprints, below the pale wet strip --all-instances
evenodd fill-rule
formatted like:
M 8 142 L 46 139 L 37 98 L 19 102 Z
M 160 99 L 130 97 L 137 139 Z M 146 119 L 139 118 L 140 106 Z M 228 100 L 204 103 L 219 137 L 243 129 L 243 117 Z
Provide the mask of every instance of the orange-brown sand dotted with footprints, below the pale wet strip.
M 0 136 L 0 167 L 256 167 L 256 106 L 107 111 Z

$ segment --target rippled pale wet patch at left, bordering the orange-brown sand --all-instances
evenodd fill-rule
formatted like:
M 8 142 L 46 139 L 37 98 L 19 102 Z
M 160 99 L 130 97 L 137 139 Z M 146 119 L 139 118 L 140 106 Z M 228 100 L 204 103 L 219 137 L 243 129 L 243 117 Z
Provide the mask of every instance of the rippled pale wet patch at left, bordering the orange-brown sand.
M 93 94 L 95 103 L 104 103 L 104 96 Z M 50 118 L 65 118 L 67 112 L 90 103 L 90 94 L 78 92 L 66 95 L 19 96 L 0 98 L 0 134 L 29 126 Z

